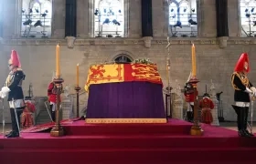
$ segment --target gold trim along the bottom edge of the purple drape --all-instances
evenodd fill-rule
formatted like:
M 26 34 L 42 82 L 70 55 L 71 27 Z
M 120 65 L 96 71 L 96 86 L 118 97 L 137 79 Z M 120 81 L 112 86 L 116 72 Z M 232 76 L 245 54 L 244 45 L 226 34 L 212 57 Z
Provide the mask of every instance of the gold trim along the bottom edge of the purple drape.
M 134 123 L 167 123 L 166 118 L 85 118 L 86 123 L 92 124 L 134 124 Z

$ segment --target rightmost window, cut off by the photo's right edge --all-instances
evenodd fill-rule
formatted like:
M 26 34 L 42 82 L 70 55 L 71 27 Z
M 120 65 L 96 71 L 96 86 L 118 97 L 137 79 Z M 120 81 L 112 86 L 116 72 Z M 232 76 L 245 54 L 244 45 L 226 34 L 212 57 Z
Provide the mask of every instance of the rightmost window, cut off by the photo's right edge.
M 256 36 L 255 0 L 240 0 L 240 23 L 242 36 Z

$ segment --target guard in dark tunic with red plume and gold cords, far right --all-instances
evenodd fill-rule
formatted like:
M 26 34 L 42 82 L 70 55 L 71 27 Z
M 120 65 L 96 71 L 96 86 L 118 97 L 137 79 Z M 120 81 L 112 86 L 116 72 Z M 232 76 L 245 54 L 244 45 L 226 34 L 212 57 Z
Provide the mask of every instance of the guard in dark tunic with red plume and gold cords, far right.
M 251 97 L 255 97 L 256 88 L 252 86 L 247 73 L 250 72 L 249 57 L 247 53 L 243 53 L 237 62 L 234 73 L 231 76 L 231 84 L 235 90 L 235 105 L 232 108 L 237 113 L 237 123 L 240 137 L 253 136 L 247 130 L 248 113 Z

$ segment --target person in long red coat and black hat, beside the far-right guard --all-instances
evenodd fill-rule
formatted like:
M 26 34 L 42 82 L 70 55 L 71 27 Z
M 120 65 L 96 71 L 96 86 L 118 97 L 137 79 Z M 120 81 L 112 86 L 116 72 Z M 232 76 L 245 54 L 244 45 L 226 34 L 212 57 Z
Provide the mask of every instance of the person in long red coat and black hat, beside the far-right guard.
M 214 104 L 210 99 L 208 93 L 205 93 L 203 99 L 200 100 L 199 107 L 202 109 L 201 122 L 210 125 L 213 121 L 211 109 L 214 108 Z

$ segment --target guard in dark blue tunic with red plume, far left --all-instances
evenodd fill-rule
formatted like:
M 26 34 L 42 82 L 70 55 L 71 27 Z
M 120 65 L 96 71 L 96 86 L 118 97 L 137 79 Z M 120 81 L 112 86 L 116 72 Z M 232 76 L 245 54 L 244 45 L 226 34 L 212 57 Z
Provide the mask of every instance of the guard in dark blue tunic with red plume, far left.
M 25 74 L 21 69 L 19 56 L 15 50 L 12 50 L 11 58 L 8 62 L 10 73 L 5 81 L 5 87 L 1 90 L 1 95 L 8 95 L 9 107 L 12 120 L 12 131 L 5 135 L 6 138 L 19 137 L 20 116 L 25 108 L 25 101 L 22 89 L 22 82 L 25 80 Z

